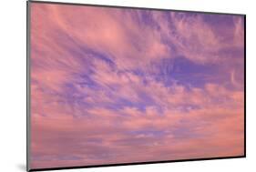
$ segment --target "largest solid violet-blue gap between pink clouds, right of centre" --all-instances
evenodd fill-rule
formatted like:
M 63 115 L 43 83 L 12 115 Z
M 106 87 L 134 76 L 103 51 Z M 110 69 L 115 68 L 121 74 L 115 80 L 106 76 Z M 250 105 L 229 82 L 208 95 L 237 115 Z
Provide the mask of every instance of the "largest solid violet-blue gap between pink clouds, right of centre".
M 178 84 L 182 86 L 202 87 L 211 76 L 218 76 L 219 66 L 200 65 L 186 57 L 164 58 L 156 63 L 159 72 L 152 74 L 157 81 L 162 81 L 166 86 Z M 213 82 L 213 80 L 211 80 Z M 218 82 L 218 78 L 215 82 Z

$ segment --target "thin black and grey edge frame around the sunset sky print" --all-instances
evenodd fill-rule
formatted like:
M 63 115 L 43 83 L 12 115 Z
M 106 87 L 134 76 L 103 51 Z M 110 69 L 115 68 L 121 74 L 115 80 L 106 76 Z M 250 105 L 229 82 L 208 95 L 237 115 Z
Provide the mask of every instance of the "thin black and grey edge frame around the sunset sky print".
M 203 157 L 203 158 L 190 158 L 190 159 L 177 159 L 177 160 L 162 160 L 162 161 L 146 161 L 146 162 L 130 162 L 130 163 L 117 163 L 117 164 L 102 164 L 102 165 L 89 165 L 77 167 L 47 167 L 47 168 L 30 168 L 29 155 L 30 155 L 30 4 L 51 4 L 51 5 L 81 5 L 81 6 L 99 6 L 109 8 L 129 8 L 129 9 L 144 9 L 144 10 L 157 10 L 157 11 L 173 11 L 183 13 L 197 13 L 197 14 L 212 14 L 212 15 L 240 15 L 244 18 L 244 152 L 242 156 L 234 157 Z M 76 169 L 88 167 L 118 167 L 129 165 L 147 165 L 171 162 L 190 162 L 202 160 L 217 160 L 217 159 L 230 159 L 230 158 L 243 158 L 246 157 L 246 15 L 244 14 L 230 14 L 218 12 L 202 12 L 202 11 L 187 11 L 187 10 L 174 10 L 162 8 L 148 8 L 148 7 L 135 7 L 135 6 L 120 6 L 120 5 L 92 5 L 80 3 L 62 3 L 51 1 L 26 1 L 26 171 L 46 171 L 46 170 L 60 170 L 60 169 Z

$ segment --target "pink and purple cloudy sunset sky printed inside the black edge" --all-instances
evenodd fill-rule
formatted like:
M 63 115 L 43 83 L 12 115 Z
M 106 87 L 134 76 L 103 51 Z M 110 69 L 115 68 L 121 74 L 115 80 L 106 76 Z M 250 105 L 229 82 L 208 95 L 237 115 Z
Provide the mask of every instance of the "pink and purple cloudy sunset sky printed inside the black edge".
M 244 155 L 244 18 L 31 5 L 30 167 Z

